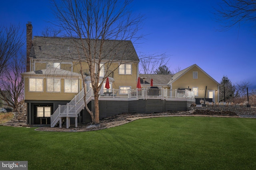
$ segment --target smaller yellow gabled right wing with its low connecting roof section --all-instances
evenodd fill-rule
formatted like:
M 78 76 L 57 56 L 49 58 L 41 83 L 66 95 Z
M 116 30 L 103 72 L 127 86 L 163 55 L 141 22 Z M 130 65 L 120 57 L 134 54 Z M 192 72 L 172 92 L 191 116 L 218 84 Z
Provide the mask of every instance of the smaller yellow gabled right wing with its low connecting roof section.
M 139 74 L 146 77 L 145 87 L 150 87 L 150 80 L 153 79 L 153 86 L 167 88 L 170 90 L 189 89 L 194 92 L 196 104 L 200 104 L 200 99 L 208 102 L 218 102 L 219 83 L 207 74 L 198 65 L 193 64 L 176 74 Z

